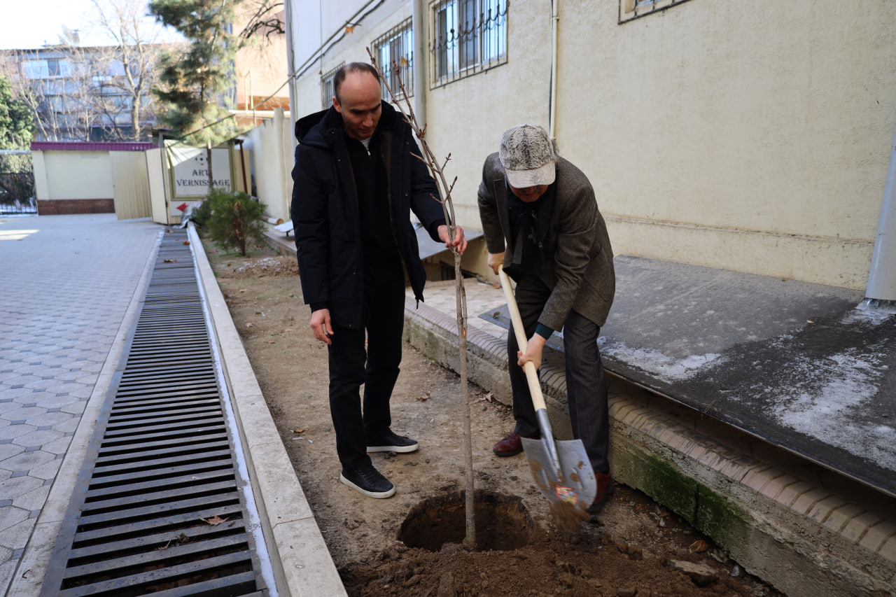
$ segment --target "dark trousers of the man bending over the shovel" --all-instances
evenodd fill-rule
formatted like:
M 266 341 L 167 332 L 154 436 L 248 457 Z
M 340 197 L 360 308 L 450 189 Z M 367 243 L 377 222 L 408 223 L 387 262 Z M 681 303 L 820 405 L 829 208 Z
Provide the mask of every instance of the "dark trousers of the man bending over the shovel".
M 537 276 L 524 275 L 516 286 L 516 302 L 520 307 L 526 338 L 531 338 L 538 326 L 538 316 L 550 297 L 551 289 Z M 563 327 L 566 358 L 566 396 L 573 424 L 573 437 L 581 439 L 594 472 L 609 472 L 609 412 L 604 364 L 600 359 L 598 335 L 600 326 L 571 311 Z M 538 437 L 538 420 L 526 374 L 517 366 L 519 350 L 513 324 L 507 334 L 507 362 L 513 389 L 513 417 L 516 432 L 526 437 Z

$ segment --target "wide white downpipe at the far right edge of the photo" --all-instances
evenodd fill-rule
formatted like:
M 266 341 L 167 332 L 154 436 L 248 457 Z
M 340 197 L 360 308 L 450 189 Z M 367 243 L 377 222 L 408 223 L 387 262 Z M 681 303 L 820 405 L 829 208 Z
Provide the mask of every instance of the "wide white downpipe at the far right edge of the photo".
M 887 170 L 887 184 L 883 188 L 881 217 L 877 223 L 877 238 L 874 239 L 871 271 L 868 273 L 868 288 L 862 307 L 881 307 L 882 301 L 896 301 L 896 134 L 890 150 L 890 169 Z

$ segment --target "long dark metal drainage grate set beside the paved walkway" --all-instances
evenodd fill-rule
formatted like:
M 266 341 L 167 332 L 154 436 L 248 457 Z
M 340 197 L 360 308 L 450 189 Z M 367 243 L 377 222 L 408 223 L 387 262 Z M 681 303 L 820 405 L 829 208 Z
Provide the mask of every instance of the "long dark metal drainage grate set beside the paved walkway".
M 185 238 L 159 246 L 42 596 L 268 594 Z

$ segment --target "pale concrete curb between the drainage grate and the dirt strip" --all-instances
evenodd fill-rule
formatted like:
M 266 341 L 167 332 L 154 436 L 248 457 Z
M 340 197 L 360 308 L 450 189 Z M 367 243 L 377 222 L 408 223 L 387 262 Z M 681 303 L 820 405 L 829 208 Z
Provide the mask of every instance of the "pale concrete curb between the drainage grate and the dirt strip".
M 192 224 L 189 233 L 280 594 L 346 595 Z

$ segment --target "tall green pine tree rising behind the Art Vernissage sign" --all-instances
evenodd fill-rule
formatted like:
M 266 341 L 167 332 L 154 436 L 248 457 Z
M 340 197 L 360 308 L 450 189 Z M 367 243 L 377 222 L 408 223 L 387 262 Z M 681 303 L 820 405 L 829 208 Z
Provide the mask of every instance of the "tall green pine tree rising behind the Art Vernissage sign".
M 162 124 L 194 145 L 217 144 L 236 133 L 228 112 L 237 39 L 229 30 L 233 0 L 151 0 L 156 20 L 179 31 L 190 46 L 161 56 Z

